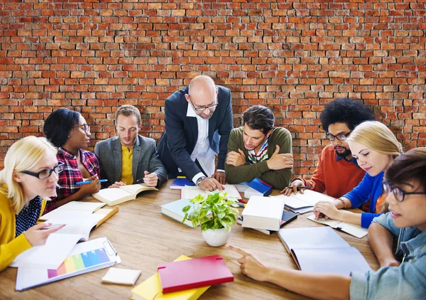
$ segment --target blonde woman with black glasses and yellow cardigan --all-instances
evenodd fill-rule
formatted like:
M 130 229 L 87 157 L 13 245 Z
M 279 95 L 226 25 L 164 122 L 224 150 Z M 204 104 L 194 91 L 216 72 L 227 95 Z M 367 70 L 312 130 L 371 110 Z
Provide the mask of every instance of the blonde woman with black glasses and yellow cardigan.
M 51 224 L 35 224 L 45 208 L 43 198 L 56 195 L 62 166 L 55 154 L 45 138 L 35 136 L 16 141 L 7 151 L 0 171 L 0 271 L 65 226 L 44 229 Z

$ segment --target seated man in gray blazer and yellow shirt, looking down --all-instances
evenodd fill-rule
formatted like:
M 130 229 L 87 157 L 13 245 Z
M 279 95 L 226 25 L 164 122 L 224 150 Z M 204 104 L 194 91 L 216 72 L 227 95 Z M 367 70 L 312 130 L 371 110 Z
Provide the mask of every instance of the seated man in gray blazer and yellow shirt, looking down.
M 99 141 L 94 154 L 101 165 L 104 186 L 117 188 L 126 184 L 146 183 L 159 188 L 167 178 L 167 171 L 158 159 L 155 141 L 140 136 L 141 113 L 132 105 L 116 111 L 115 126 L 118 136 Z

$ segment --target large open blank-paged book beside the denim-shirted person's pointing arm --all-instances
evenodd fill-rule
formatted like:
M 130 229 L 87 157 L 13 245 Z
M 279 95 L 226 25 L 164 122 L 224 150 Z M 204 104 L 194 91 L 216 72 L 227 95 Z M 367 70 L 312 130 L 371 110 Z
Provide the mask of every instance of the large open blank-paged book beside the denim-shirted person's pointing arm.
M 361 253 L 330 227 L 283 228 L 278 236 L 302 271 L 350 275 L 371 269 Z

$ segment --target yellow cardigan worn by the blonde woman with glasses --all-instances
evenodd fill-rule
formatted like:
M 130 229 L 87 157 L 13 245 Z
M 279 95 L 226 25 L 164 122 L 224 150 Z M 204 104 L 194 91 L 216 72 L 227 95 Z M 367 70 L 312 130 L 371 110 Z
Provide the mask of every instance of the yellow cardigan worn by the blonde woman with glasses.
M 5 187 L 5 186 L 3 186 Z M 41 203 L 41 214 L 46 201 Z M 0 271 L 13 262 L 13 259 L 32 246 L 21 233 L 16 235 L 16 215 L 11 208 L 11 199 L 0 193 Z

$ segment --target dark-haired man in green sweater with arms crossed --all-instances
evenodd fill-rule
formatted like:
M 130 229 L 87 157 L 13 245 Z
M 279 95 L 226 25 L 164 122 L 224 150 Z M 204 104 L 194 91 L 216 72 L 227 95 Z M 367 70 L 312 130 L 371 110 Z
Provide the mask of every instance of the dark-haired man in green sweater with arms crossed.
M 281 190 L 288 186 L 293 168 L 290 132 L 274 127 L 271 109 L 254 105 L 243 113 L 243 127 L 231 131 L 226 154 L 227 183 L 260 178 Z

